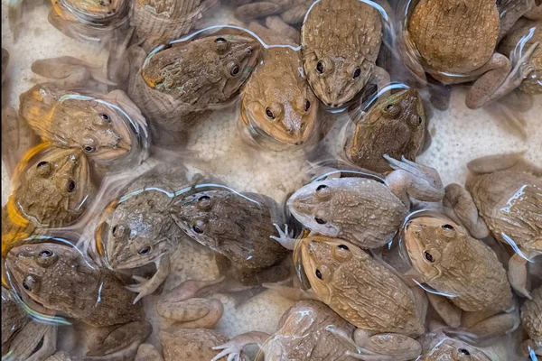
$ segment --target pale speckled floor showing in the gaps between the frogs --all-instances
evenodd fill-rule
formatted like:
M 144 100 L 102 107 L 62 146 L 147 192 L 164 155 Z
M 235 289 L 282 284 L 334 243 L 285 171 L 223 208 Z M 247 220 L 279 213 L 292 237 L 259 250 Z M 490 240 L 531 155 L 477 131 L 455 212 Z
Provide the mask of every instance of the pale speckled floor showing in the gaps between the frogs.
M 8 0 L 2 0 L 2 43 L 10 52 L 11 59 L 3 86 L 3 106 L 18 106 L 18 95 L 40 80 L 30 70 L 33 60 L 72 55 L 105 65 L 106 50 L 97 44 L 77 42 L 58 32 L 47 22 L 49 5 L 41 2 L 29 7 L 24 14 L 28 25 L 15 43 L 8 29 L 7 3 Z M 542 97 L 537 97 L 536 105 L 522 114 L 528 127 L 528 139 L 522 139 L 486 110 L 467 109 L 464 95 L 464 88 L 454 88 L 449 110 L 435 110 L 430 121 L 433 141 L 418 158 L 419 162 L 435 167 L 444 184 L 463 183 L 466 163 L 493 153 L 525 151 L 528 160 L 542 165 Z M 221 111 L 198 125 L 188 144 L 188 159 L 192 166 L 212 173 L 238 190 L 262 192 L 279 201 L 284 200 L 289 192 L 301 185 L 309 164 L 302 154 L 257 152 L 248 147 L 238 135 L 237 117 L 235 106 L 232 106 L 231 110 Z M 195 159 L 193 154 L 198 158 Z M 3 205 L 9 191 L 3 164 Z M 173 273 L 164 286 L 166 290 L 187 278 L 212 279 L 218 273 L 210 262 L 210 255 L 201 247 L 182 245 L 174 259 Z M 156 321 L 153 317 L 154 298 L 145 299 L 145 303 L 149 318 Z M 225 316 L 218 329 L 230 337 L 255 329 L 272 332 L 291 304 L 291 301 L 272 292 L 261 293 L 237 309 L 232 301 L 223 301 Z M 152 340 L 155 341 L 155 336 Z

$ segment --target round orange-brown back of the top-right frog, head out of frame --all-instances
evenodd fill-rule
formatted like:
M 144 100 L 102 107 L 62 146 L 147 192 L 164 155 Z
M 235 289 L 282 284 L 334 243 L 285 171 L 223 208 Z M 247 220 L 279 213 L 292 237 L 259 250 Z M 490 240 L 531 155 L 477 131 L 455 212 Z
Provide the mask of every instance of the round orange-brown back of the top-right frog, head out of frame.
M 408 23 L 411 41 L 425 65 L 459 74 L 490 60 L 499 30 L 495 0 L 421 0 Z

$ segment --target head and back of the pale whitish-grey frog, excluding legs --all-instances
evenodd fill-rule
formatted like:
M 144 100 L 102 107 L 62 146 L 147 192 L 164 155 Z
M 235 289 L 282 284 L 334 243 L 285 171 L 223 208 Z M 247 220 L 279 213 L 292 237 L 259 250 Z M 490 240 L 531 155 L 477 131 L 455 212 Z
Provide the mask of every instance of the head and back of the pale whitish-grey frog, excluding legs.
M 386 184 L 363 178 L 309 183 L 288 199 L 287 206 L 314 232 L 345 238 L 364 248 L 388 243 L 408 214 Z

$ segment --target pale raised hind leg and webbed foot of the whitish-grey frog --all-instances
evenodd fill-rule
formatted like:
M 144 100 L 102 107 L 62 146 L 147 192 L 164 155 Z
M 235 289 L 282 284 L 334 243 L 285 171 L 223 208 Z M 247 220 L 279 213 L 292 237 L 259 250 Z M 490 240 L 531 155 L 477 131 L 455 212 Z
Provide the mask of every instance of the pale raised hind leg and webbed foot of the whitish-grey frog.
M 408 161 L 404 156 L 401 161 L 384 154 L 392 171 L 386 177 L 386 183 L 406 208 L 410 208 L 410 197 L 418 200 L 438 202 L 444 198 L 443 182 L 438 172 L 431 167 Z

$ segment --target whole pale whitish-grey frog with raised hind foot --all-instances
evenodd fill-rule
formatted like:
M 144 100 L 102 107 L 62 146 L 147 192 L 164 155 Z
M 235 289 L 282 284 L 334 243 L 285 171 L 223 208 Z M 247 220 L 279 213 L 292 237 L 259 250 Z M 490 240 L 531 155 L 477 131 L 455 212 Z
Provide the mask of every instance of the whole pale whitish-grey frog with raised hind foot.
M 410 197 L 431 202 L 444 198 L 444 186 L 431 167 L 398 161 L 384 154 L 394 171 L 380 177 L 314 180 L 287 200 L 304 227 L 323 236 L 348 239 L 361 248 L 388 244 L 410 211 Z M 287 233 L 287 230 L 286 230 Z

